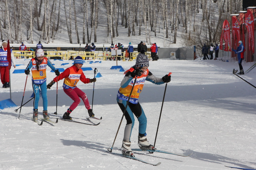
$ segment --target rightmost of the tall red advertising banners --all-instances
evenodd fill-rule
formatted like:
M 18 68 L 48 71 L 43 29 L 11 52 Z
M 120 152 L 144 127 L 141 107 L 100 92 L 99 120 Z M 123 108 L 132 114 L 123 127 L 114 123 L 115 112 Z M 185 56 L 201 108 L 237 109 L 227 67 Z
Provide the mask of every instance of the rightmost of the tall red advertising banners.
M 245 14 L 244 22 L 248 32 L 248 47 L 254 53 L 254 21 L 252 12 L 249 9 L 247 9 L 247 13 Z

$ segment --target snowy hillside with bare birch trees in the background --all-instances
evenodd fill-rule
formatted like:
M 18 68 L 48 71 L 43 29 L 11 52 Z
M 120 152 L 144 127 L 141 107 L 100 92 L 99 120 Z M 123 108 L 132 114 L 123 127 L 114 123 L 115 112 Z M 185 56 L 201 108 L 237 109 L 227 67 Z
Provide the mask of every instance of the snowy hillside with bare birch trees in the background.
M 161 47 L 219 43 L 242 0 L 0 0 L 0 36 L 10 43 L 133 41 Z M 140 43 L 140 42 L 132 42 Z

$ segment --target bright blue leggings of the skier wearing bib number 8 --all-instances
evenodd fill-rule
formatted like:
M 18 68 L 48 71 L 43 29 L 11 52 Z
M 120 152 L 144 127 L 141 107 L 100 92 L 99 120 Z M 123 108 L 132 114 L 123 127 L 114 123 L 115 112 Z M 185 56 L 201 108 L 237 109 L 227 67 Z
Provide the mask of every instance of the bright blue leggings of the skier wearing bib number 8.
M 34 84 L 32 82 L 32 85 L 33 85 L 33 91 L 34 91 L 34 94 L 35 94 L 34 109 L 38 109 L 38 101 L 39 101 L 39 98 L 40 98 L 40 94 L 39 94 L 39 86 L 40 86 L 40 89 L 42 91 L 43 109 L 47 110 L 48 100 L 47 100 L 46 81 L 43 84 Z

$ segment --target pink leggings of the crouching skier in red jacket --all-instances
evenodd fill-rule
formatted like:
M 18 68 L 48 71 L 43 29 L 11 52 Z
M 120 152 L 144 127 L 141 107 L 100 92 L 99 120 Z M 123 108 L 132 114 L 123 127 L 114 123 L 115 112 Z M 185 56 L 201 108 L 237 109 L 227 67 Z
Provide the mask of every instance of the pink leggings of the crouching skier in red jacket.
M 81 102 L 81 100 L 79 99 L 79 97 L 83 100 L 84 106 L 86 107 L 87 110 L 91 109 L 91 106 L 89 104 L 89 100 L 86 96 L 86 94 L 80 90 L 78 87 L 72 89 L 63 89 L 64 92 L 72 99 L 74 100 L 74 102 L 71 104 L 71 106 L 69 107 L 70 110 L 74 110 L 76 109 L 76 107 L 78 106 L 78 104 Z

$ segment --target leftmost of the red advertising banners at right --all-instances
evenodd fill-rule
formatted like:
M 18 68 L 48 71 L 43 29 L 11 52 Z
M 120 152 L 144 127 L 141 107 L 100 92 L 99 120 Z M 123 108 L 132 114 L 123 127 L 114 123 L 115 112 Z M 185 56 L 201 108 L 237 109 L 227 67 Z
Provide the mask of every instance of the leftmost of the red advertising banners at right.
M 222 41 L 225 42 L 225 49 L 224 51 L 231 51 L 231 41 L 230 41 L 230 27 L 228 20 L 225 20 L 222 25 L 222 33 L 220 36 L 220 49 L 223 50 Z

